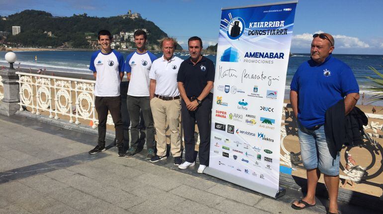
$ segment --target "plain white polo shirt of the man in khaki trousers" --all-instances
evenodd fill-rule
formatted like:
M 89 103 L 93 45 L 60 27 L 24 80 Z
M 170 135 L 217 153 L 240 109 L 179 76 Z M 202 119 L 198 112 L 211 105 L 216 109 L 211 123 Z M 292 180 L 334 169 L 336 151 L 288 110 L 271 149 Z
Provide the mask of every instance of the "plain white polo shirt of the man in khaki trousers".
M 167 61 L 162 55 L 153 62 L 149 78 L 156 80 L 155 94 L 167 97 L 180 95 L 177 87 L 177 74 L 183 61 L 174 55 L 171 60 Z

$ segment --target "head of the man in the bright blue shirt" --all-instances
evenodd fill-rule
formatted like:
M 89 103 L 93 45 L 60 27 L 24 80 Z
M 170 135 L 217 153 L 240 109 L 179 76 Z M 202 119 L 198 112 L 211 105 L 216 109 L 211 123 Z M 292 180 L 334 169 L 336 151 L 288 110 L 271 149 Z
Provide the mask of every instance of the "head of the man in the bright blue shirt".
M 327 39 L 321 39 L 319 36 L 315 37 L 311 42 L 311 59 L 318 64 L 323 63 L 333 50 L 334 47 L 331 46 Z

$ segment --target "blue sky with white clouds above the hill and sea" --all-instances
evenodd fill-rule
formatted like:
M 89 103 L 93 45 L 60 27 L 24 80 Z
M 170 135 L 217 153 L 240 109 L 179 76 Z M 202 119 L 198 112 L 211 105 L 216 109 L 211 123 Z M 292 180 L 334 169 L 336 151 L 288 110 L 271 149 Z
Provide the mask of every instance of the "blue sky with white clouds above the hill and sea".
M 191 36 L 204 47 L 217 42 L 222 7 L 277 2 L 280 0 L 0 0 L 0 15 L 24 9 L 44 10 L 55 16 L 88 13 L 116 16 L 129 9 L 153 21 L 186 48 Z M 383 0 L 299 0 L 291 43 L 292 53 L 308 53 L 315 32 L 335 37 L 334 53 L 383 54 Z M 3 29 L 0 29 L 0 31 Z

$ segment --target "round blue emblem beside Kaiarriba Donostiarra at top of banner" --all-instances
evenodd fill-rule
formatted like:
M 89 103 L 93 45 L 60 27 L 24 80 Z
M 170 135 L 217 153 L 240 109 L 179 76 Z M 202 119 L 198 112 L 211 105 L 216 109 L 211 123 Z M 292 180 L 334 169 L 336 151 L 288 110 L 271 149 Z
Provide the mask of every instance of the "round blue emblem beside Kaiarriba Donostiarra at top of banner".
M 221 19 L 221 28 L 226 30 L 230 39 L 238 39 L 245 31 L 245 21 L 241 17 L 233 18 L 231 13 L 228 13 L 227 16 L 227 18 Z

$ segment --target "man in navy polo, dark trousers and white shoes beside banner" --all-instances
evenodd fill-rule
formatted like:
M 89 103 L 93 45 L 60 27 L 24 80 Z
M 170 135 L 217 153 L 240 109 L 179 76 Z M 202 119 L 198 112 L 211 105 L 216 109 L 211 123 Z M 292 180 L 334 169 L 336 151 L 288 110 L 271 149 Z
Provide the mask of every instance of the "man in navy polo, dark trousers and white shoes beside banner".
M 201 55 L 202 40 L 193 36 L 188 40 L 190 58 L 185 60 L 178 71 L 177 81 L 180 91 L 181 116 L 185 139 L 185 162 L 178 166 L 186 169 L 195 164 L 195 121 L 199 130 L 199 167 L 197 172 L 209 164 L 210 149 L 210 117 L 213 94 L 210 90 L 214 82 L 214 64 Z

